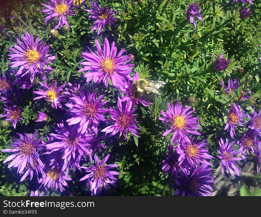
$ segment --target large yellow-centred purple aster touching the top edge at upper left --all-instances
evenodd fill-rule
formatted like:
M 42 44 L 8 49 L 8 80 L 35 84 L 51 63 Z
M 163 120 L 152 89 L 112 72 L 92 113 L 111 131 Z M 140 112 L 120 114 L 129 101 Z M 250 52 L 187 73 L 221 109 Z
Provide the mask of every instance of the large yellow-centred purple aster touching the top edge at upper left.
M 71 10 L 71 8 L 74 7 L 72 3 L 73 0 L 49 0 L 47 4 L 42 4 L 47 7 L 47 9 L 42 10 L 42 12 L 49 15 L 45 18 L 44 23 L 47 24 L 53 18 L 58 17 L 58 24 L 54 27 L 55 29 L 63 25 L 70 27 L 66 20 L 66 15 L 76 15 L 73 13 L 76 10 Z

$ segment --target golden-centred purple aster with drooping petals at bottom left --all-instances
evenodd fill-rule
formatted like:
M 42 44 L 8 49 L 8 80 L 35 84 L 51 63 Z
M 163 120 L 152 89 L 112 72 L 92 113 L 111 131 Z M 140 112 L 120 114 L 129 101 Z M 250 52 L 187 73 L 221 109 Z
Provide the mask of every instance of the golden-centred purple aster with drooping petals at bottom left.
M 55 188 L 55 191 L 57 191 L 58 188 L 60 191 L 64 191 L 64 186 L 68 187 L 66 181 L 71 180 L 70 177 L 66 176 L 58 168 L 49 168 L 42 175 L 43 176 L 39 179 L 39 184 L 41 184 L 39 188 L 42 186 L 49 189 Z

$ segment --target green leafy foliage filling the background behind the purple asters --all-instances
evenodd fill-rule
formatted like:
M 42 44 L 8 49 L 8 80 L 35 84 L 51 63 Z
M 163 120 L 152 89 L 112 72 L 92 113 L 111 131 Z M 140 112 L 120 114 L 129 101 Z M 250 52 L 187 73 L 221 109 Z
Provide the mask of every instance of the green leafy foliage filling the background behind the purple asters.
M 166 104 L 180 100 L 182 103 L 192 105 L 195 116 L 200 117 L 202 122 L 199 139 L 208 138 L 211 144 L 208 146 L 209 152 L 216 157 L 219 149 L 218 140 L 220 137 L 230 138 L 229 132 L 224 131 L 227 119 L 227 108 L 235 102 L 235 95 L 226 95 L 221 88 L 221 81 L 227 84 L 228 78 L 240 78 L 244 81 L 242 90 L 249 88 L 251 98 L 238 101 L 237 104 L 244 110 L 251 110 L 249 106 L 260 109 L 261 95 L 261 69 L 259 58 L 261 50 L 260 27 L 261 27 L 261 1 L 254 0 L 254 5 L 248 4 L 253 10 L 252 16 L 242 20 L 239 16 L 240 10 L 245 4 L 240 1 L 197 1 L 200 3 L 203 21 L 196 19 L 197 29 L 189 23 L 184 10 L 187 4 L 193 1 L 180 0 L 138 0 L 138 1 L 99 1 L 118 11 L 116 25 L 102 31 L 99 36 L 96 32 L 90 31 L 93 21 L 88 18 L 88 12 L 80 8 L 77 15 L 68 16 L 70 29 L 59 28 L 57 34 L 51 34 L 51 26 L 44 24 L 45 14 L 41 12 L 44 8 L 43 1 L 17 1 L 12 3 L 9 10 L 1 10 L 1 23 L 9 27 L 7 35 L 1 34 L 0 58 L 1 72 L 9 69 L 8 48 L 15 45 L 15 38 L 20 37 L 25 31 L 35 37 L 40 35 L 40 40 L 44 39 L 50 45 L 50 52 L 55 54 L 52 67 L 54 70 L 48 76 L 50 82 L 52 78 L 58 81 L 58 86 L 64 82 L 74 81 L 81 83 L 82 88 L 97 91 L 104 94 L 109 100 L 107 106 L 115 108 L 117 106 L 117 96 L 120 95 L 118 89 L 104 84 L 86 83 L 83 78 L 84 73 L 79 73 L 79 63 L 82 62 L 81 53 L 95 49 L 94 40 L 103 44 L 107 37 L 110 42 L 115 41 L 117 47 L 125 48 L 128 53 L 134 55 L 135 67 L 133 72 L 139 71 L 142 78 L 151 80 L 162 80 L 167 84 L 162 88 L 164 96 L 158 97 L 152 106 L 143 107 L 138 105 L 136 114 L 140 121 L 139 139 L 134 139 L 128 135 L 128 140 L 117 135 L 106 137 L 101 141 L 107 148 L 98 152 L 99 157 L 104 157 L 111 153 L 107 163 L 117 162 L 120 172 L 117 180 L 117 188 L 110 187 L 108 191 L 103 191 L 102 195 L 173 195 L 171 188 L 173 181 L 168 179 L 168 175 L 163 174 L 160 162 L 165 159 L 166 145 L 171 140 L 171 135 L 162 136 L 165 130 L 164 125 L 158 120 L 161 110 L 166 110 Z M 88 5 L 88 4 L 87 4 Z M 15 19 L 8 19 L 7 15 L 12 15 Z M 16 20 L 16 21 L 15 21 Z M 217 73 L 212 63 L 215 55 L 225 54 L 231 59 L 229 67 Z M 243 71 L 242 72 L 242 69 Z M 39 135 L 45 136 L 53 132 L 53 127 L 66 119 L 65 110 L 54 109 L 50 103 L 44 100 L 34 100 L 32 91 L 39 87 L 36 84 L 24 90 L 20 107 L 24 109 L 24 120 L 17 125 L 14 130 L 12 126 L 0 124 L 0 149 L 8 148 L 12 138 L 17 137 L 16 132 L 33 133 L 37 131 Z M 68 86 L 67 86 L 68 87 Z M 217 94 L 215 94 L 215 92 Z M 188 102 L 188 98 L 193 97 L 193 103 Z M 65 106 L 64 106 L 65 108 Z M 2 104 L 0 104 L 0 111 Z M 45 112 L 50 118 L 47 122 L 35 122 L 37 112 Z M 1 120 L 2 121 L 2 120 Z M 1 122 L 0 121 L 0 122 Z M 100 129 L 105 128 L 105 124 L 100 125 Z M 235 140 L 246 131 L 246 128 L 239 128 Z M 103 135 L 103 133 L 99 133 Z M 8 154 L 0 152 L 0 162 Z M 86 162 L 83 162 L 89 164 Z M 220 164 L 216 157 L 213 162 L 214 175 Z M 243 168 L 248 162 L 242 162 Z M 256 162 L 252 171 L 253 176 L 243 179 L 235 177 L 234 183 L 238 183 L 241 190 L 237 195 L 250 195 L 256 192 L 260 195 L 260 174 L 257 174 Z M 4 196 L 29 195 L 31 190 L 38 188 L 37 180 L 30 181 L 28 178 L 20 183 L 20 177 L 16 169 L 8 169 L 7 165 L 0 168 L 0 194 Z M 89 187 L 84 182 L 79 182 L 79 177 L 83 177 L 83 171 L 70 172 L 72 178 L 68 182 L 69 188 L 63 193 L 49 191 L 44 195 L 90 195 Z M 227 174 L 227 178 L 231 179 Z M 214 188 L 215 191 L 215 188 Z M 258 193 L 259 192 L 259 193 Z M 219 195 L 227 195 L 227 190 Z

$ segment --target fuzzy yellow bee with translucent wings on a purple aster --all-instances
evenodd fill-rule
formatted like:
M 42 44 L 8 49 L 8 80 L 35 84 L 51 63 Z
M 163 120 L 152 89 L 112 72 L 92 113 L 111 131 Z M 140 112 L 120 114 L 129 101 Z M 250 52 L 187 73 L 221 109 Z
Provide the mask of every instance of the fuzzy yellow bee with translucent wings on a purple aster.
M 164 81 L 149 81 L 147 79 L 140 78 L 137 81 L 132 82 L 131 92 L 133 96 L 144 96 L 149 101 L 155 101 L 157 95 L 163 95 L 159 90 L 166 83 Z

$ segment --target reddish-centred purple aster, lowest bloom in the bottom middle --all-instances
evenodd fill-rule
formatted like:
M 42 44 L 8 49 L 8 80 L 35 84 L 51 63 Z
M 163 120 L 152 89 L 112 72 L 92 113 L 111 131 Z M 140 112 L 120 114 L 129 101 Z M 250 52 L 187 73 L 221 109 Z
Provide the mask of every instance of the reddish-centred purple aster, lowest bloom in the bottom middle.
M 119 172 L 110 171 L 114 167 L 117 167 L 118 164 L 107 164 L 104 166 L 106 161 L 109 159 L 110 154 L 106 155 L 106 157 L 99 162 L 97 155 L 94 155 L 95 164 L 92 164 L 91 168 L 82 166 L 81 168 L 85 169 L 85 172 L 89 173 L 82 177 L 79 181 L 83 181 L 87 179 L 87 185 L 90 186 L 90 190 L 92 195 L 98 195 L 101 193 L 102 187 L 106 190 L 108 189 L 109 184 L 116 187 L 115 183 L 117 180 L 115 175 L 119 175 Z

